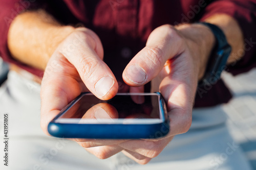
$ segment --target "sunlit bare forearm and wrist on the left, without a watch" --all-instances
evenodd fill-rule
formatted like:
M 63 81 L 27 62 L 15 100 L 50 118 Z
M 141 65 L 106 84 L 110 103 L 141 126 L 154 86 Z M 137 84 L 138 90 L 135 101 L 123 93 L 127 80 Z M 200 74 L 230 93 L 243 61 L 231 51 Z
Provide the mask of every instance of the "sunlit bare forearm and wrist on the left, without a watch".
M 44 11 L 28 11 L 12 21 L 8 32 L 8 48 L 16 60 L 45 69 L 54 48 L 71 32 Z

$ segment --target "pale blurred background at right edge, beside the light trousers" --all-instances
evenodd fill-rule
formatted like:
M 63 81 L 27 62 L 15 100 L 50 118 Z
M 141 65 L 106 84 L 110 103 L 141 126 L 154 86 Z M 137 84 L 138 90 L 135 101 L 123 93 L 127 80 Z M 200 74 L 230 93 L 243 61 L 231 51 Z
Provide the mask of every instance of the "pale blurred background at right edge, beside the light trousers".
M 236 77 L 223 72 L 222 78 L 233 94 L 224 107 L 228 129 L 256 169 L 256 68 Z

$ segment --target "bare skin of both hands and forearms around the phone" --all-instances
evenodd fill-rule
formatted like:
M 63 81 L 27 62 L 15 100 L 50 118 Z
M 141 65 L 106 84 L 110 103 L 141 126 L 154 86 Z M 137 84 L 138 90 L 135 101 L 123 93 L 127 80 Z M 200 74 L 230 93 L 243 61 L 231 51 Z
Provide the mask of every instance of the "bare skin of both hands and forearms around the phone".
M 225 14 L 216 14 L 206 21 L 219 26 L 232 46 L 227 64 L 238 61 L 242 56 L 236 54 L 241 54 L 238 51 L 244 44 L 237 21 Z M 204 75 L 214 45 L 214 35 L 203 25 L 160 26 L 123 70 L 123 80 L 131 86 L 130 92 L 143 92 L 143 85 L 152 81 L 152 90 L 163 94 L 170 119 L 167 136 L 140 140 L 72 140 L 100 159 L 123 152 L 140 164 L 149 162 L 175 135 L 188 131 L 197 83 Z M 103 48 L 92 30 L 61 26 L 44 11 L 25 12 L 11 24 L 8 47 L 15 59 L 45 69 L 41 84 L 41 127 L 46 134 L 50 120 L 81 91 L 91 91 L 102 100 L 111 99 L 117 93 L 118 83 L 102 61 Z M 133 71 L 129 67 L 133 67 Z M 144 71 L 140 79 L 139 69 Z M 108 80 L 109 88 L 97 90 L 104 88 L 102 83 L 96 85 L 100 78 L 104 78 L 104 82 Z

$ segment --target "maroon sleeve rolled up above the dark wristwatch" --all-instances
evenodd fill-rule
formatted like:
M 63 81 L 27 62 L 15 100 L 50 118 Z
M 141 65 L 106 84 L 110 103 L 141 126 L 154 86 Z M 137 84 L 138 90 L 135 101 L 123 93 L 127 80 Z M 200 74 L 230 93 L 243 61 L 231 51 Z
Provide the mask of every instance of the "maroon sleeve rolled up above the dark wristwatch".
M 202 21 L 217 13 L 224 13 L 236 19 L 244 36 L 245 54 L 243 58 L 228 65 L 226 71 L 238 75 L 256 67 L 256 1 L 219 0 L 211 2 L 204 9 L 200 20 Z M 238 53 L 243 53 L 243 50 Z M 234 55 L 238 56 L 238 54 Z

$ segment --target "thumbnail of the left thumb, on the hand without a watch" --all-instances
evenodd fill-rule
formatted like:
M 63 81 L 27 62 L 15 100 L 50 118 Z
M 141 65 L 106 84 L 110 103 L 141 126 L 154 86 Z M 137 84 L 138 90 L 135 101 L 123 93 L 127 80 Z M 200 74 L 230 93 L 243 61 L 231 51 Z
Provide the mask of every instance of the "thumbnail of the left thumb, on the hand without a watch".
M 115 81 L 109 77 L 105 76 L 98 80 L 98 82 L 95 84 L 95 90 L 99 97 L 103 97 L 106 95 L 112 86 L 114 85 Z

